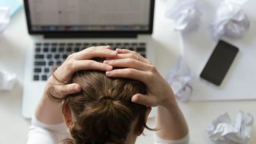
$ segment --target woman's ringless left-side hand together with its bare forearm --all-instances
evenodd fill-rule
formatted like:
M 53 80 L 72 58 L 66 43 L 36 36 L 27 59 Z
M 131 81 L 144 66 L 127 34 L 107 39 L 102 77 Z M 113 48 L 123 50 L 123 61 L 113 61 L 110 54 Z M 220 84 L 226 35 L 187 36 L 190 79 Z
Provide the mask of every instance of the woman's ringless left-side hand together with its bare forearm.
M 35 112 L 36 118 L 46 124 L 59 124 L 63 122 L 61 113 L 61 103 L 52 102 L 49 98 L 48 91 L 51 91 L 52 96 L 61 98 L 63 95 L 77 93 L 81 91 L 81 86 L 78 84 L 67 84 L 73 74 L 79 70 L 94 69 L 94 70 L 112 70 L 113 67 L 105 63 L 90 60 L 92 58 L 115 58 L 116 51 L 111 51 L 109 46 L 89 47 L 83 51 L 73 53 L 68 56 L 67 60 L 54 71 L 54 76 L 51 76 L 45 86 L 45 90 L 41 100 L 37 105 Z M 53 92 L 53 93 L 52 93 Z

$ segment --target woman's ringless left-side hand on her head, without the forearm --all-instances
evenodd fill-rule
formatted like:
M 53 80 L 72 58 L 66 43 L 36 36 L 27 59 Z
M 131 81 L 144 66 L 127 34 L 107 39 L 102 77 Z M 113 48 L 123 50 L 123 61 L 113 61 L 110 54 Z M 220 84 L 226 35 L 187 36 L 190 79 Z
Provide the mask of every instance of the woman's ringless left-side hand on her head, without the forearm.
M 78 84 L 65 85 L 65 82 L 68 82 L 76 71 L 87 69 L 102 71 L 112 70 L 112 66 L 90 59 L 95 57 L 114 58 L 116 56 L 117 52 L 110 50 L 110 46 L 89 47 L 83 51 L 70 54 L 65 62 L 54 71 L 55 77 L 51 76 L 49 78 L 46 89 L 49 88 L 54 91 L 55 97 L 77 93 L 81 91 L 81 86 Z

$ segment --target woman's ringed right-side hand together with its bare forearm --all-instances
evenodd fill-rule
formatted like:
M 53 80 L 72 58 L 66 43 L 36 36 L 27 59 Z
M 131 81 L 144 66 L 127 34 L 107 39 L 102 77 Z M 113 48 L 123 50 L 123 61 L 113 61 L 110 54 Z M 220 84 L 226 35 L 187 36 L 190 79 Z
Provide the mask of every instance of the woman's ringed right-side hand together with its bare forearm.
M 152 63 L 136 52 L 117 49 L 116 58 L 104 63 L 113 67 L 124 67 L 106 72 L 109 77 L 136 79 L 148 88 L 147 95 L 135 94 L 132 102 L 157 108 L 156 131 L 158 137 L 166 140 L 178 140 L 188 135 L 186 120 L 174 98 L 171 86 L 157 72 Z M 188 136 L 186 138 L 188 140 Z

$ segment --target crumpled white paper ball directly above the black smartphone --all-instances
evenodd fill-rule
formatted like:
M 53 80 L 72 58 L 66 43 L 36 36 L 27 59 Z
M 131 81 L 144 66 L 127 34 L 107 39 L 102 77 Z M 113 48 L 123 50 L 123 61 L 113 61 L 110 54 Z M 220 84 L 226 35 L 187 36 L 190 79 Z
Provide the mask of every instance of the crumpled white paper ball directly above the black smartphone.
M 212 23 L 214 39 L 219 39 L 221 36 L 239 38 L 249 30 L 250 21 L 242 10 L 242 5 L 246 1 L 243 0 L 243 3 L 241 1 L 240 3 L 224 1 L 220 4 Z

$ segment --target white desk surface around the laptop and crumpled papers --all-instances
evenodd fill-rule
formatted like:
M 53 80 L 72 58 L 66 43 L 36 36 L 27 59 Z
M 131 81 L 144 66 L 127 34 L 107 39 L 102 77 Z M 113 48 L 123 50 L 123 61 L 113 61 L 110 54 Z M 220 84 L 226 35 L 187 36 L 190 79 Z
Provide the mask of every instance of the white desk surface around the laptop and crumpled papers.
M 180 54 L 178 34 L 174 33 L 170 20 L 164 19 L 165 1 L 156 1 L 154 39 L 156 51 L 156 67 L 166 76 Z M 21 97 L 23 85 L 23 63 L 25 49 L 31 43 L 27 34 L 24 11 L 12 18 L 9 27 L 0 36 L 0 69 L 8 70 L 18 75 L 19 83 L 11 92 L 0 92 L 0 143 L 25 143 L 30 121 L 21 116 Z M 225 102 L 191 102 L 180 103 L 187 118 L 190 130 L 191 144 L 211 143 L 206 138 L 204 129 L 211 120 L 219 114 L 228 111 L 235 117 L 238 110 L 244 110 L 256 117 L 256 101 L 225 101 Z M 154 119 L 148 121 L 154 127 Z M 254 124 L 251 139 L 248 144 L 256 142 L 256 126 Z M 145 132 L 137 143 L 153 143 L 153 132 Z

